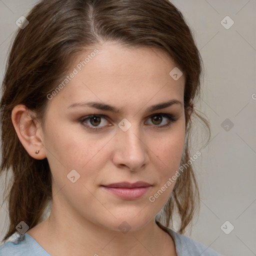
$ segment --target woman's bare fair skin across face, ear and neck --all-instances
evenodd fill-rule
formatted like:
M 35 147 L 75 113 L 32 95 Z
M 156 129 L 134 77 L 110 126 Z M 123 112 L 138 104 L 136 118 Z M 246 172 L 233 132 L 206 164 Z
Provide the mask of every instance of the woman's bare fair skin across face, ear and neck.
M 52 256 L 176 255 L 173 239 L 154 222 L 175 183 L 154 202 L 148 198 L 179 167 L 185 138 L 184 75 L 174 80 L 169 72 L 177 65 L 157 48 L 105 42 L 97 49 L 99 53 L 48 100 L 44 125 L 32 121 L 35 113 L 24 105 L 13 108 L 12 121 L 21 143 L 32 157 L 47 157 L 52 174 L 51 213 L 27 233 Z M 79 55 L 73 66 L 87 54 Z M 147 107 L 170 99 L 181 104 L 146 112 Z M 68 108 L 81 101 L 104 102 L 121 112 Z M 152 118 L 159 113 L 172 114 L 176 121 L 159 128 L 168 123 L 161 115 L 158 121 Z M 92 114 L 107 116 L 83 122 L 102 127 L 99 131 L 78 121 Z M 131 124 L 127 131 L 118 127 L 123 118 Z M 80 175 L 74 183 L 67 178 L 72 169 Z M 138 180 L 151 187 L 133 200 L 100 186 Z M 118 228 L 123 221 L 130 227 L 126 233 Z

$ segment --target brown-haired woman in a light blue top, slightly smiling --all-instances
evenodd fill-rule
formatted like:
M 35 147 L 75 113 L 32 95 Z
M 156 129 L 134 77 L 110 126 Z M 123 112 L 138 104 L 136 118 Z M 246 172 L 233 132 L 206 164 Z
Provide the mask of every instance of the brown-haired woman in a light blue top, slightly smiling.
M 2 85 L 13 183 L 0 255 L 219 255 L 182 235 L 198 202 L 192 116 L 208 127 L 200 73 L 167 0 L 38 2 Z

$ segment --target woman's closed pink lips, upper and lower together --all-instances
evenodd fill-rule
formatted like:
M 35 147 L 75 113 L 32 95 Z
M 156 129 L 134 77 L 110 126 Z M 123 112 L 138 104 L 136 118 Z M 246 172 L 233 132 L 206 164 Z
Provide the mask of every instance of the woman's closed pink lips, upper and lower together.
M 126 200 L 134 200 L 144 195 L 151 185 L 147 182 L 137 181 L 135 183 L 119 182 L 102 187 L 110 193 Z

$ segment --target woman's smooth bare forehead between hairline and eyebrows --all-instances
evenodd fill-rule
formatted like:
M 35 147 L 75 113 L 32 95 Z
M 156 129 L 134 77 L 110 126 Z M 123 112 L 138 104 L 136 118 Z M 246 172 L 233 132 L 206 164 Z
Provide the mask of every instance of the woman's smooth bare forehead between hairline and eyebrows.
M 134 106 L 135 102 L 158 103 L 176 98 L 183 101 L 185 77 L 173 79 L 178 68 L 172 57 L 158 48 L 125 47 L 105 42 L 73 60 L 69 78 L 53 101 L 70 105 L 81 100 L 101 100 Z M 71 73 L 72 78 L 70 78 Z M 64 81 L 64 79 L 63 79 Z

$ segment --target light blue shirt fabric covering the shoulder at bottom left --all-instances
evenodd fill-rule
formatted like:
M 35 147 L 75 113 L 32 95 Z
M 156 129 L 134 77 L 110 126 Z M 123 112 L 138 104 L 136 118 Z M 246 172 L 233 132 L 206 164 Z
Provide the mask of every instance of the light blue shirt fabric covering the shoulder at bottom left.
M 49 255 L 40 253 L 37 247 L 37 243 L 29 235 L 14 233 L 0 246 L 0 256 Z

